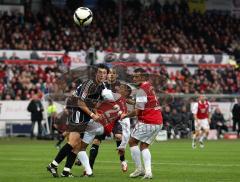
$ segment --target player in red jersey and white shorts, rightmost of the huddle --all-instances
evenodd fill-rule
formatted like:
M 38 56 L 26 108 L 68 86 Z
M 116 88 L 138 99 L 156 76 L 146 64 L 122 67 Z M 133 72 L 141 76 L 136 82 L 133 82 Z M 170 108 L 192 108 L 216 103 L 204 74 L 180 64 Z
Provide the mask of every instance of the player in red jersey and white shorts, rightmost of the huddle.
M 143 179 L 152 178 L 151 153 L 148 147 L 161 130 L 163 123 L 156 93 L 151 83 L 147 80 L 148 75 L 144 69 L 138 68 L 134 70 L 133 82 L 138 86 L 135 109 L 121 116 L 121 118 L 133 116 L 138 118 L 129 140 L 132 159 L 136 166 L 136 170 L 130 174 L 131 178 L 142 175 L 144 175 Z M 140 149 L 138 147 L 139 142 Z M 141 164 L 141 153 L 145 170 L 143 170 Z

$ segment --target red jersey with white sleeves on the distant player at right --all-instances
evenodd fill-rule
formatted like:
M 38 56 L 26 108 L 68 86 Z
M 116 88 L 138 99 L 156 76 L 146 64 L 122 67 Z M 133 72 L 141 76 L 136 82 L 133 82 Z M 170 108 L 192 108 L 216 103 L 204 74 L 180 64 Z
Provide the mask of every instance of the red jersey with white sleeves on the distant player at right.
M 210 106 L 208 101 L 203 103 L 198 101 L 198 103 L 193 106 L 193 114 L 196 114 L 198 119 L 208 119 L 209 112 Z

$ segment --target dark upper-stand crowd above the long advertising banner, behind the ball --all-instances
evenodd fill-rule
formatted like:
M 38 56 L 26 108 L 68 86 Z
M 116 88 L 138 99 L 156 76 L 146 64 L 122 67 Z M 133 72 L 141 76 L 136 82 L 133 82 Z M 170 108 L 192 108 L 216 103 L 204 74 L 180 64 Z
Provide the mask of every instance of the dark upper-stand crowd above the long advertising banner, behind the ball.
M 113 1 L 99 1 L 93 23 L 84 28 L 74 25 L 70 9 L 43 6 L 36 14 L 28 9 L 25 15 L 1 14 L 0 49 L 118 50 L 119 12 Z M 146 6 L 138 0 L 123 1 L 122 10 L 124 51 L 219 54 L 240 49 L 240 19 L 227 14 L 190 13 L 184 0 Z

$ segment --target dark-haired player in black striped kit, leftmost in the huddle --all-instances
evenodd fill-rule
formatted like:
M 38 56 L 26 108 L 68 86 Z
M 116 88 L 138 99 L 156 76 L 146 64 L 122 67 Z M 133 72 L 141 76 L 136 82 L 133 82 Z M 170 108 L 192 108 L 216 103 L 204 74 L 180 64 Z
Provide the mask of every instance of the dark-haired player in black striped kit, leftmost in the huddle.
M 103 130 L 100 124 L 95 122 L 100 119 L 98 114 L 94 113 L 95 105 L 102 98 L 103 91 L 106 91 L 104 81 L 107 78 L 108 67 L 100 64 L 96 69 L 96 77 L 94 80 L 88 80 L 79 85 L 67 102 L 68 110 L 68 131 L 69 140 L 56 155 L 55 159 L 47 166 L 47 170 L 58 177 L 57 167 L 60 162 L 67 156 L 67 161 L 62 177 L 73 177 L 70 170 L 76 159 L 76 154 L 79 152 L 79 145 L 81 142 L 80 134 L 85 130 L 91 130 L 96 133 Z M 98 131 L 99 130 L 99 131 Z M 85 152 L 86 153 L 86 152 Z M 83 152 L 83 162 L 88 162 L 88 156 Z M 91 175 L 91 174 L 89 174 Z

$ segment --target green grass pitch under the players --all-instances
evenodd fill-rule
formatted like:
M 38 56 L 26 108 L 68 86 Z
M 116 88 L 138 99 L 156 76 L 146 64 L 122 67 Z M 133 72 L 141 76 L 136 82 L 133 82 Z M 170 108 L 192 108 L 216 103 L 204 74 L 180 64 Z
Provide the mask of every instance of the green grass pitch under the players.
M 0 182 L 56 182 L 100 181 L 127 182 L 134 170 L 129 149 L 126 158 L 129 170 L 123 173 L 116 152 L 116 144 L 104 141 L 96 160 L 93 178 L 54 179 L 46 166 L 57 153 L 55 141 L 37 141 L 27 138 L 0 139 Z M 204 149 L 191 148 L 190 140 L 155 142 L 151 146 L 154 178 L 151 181 L 240 181 L 240 140 L 207 141 Z M 65 161 L 60 165 L 61 172 Z M 73 167 L 80 176 L 82 168 Z

